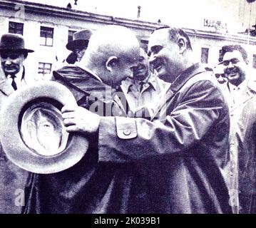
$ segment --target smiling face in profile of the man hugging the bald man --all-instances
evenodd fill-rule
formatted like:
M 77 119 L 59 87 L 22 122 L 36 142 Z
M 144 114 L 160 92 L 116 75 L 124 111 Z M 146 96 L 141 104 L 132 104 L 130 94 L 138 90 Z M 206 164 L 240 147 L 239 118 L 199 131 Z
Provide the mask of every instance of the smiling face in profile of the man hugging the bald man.
M 170 41 L 168 28 L 156 30 L 148 42 L 150 64 L 158 71 L 159 78 L 172 82 L 180 74 L 180 50 L 177 43 Z

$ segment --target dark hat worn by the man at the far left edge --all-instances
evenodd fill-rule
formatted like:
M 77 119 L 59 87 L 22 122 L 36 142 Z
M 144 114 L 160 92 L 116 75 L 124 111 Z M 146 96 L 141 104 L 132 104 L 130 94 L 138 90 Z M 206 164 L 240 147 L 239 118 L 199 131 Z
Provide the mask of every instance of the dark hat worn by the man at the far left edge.
M 1 36 L 0 52 L 1 51 L 21 51 L 24 53 L 34 52 L 31 49 L 25 48 L 23 36 L 12 33 L 6 33 Z

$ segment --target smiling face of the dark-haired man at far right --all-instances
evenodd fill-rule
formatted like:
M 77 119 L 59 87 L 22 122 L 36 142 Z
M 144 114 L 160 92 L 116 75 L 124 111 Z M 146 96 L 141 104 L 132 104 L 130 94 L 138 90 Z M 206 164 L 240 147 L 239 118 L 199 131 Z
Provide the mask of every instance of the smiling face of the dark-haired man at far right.
M 223 56 L 222 65 L 227 80 L 235 86 L 238 86 L 245 80 L 245 70 L 247 64 L 242 58 L 240 51 L 226 52 Z

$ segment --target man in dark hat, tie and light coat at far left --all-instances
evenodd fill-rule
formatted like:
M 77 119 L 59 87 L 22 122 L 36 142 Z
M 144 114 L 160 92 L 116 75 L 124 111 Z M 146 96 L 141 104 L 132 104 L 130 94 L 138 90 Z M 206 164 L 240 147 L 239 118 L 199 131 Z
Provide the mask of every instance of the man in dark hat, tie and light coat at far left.
M 0 107 L 6 98 L 19 88 L 34 81 L 26 76 L 24 60 L 34 52 L 25 47 L 20 35 L 1 36 Z M 0 213 L 20 213 L 21 203 L 15 202 L 17 192 L 24 189 L 27 172 L 13 165 L 5 156 L 0 143 Z

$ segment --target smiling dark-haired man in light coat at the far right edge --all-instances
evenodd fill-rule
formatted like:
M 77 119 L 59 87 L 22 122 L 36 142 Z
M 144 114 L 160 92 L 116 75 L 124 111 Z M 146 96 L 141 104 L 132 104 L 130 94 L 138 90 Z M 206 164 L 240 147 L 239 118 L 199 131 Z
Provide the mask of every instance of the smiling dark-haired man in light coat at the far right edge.
M 236 213 L 256 212 L 255 72 L 245 48 L 222 46 L 220 64 L 228 82 L 223 89 L 230 106 L 230 195 Z

